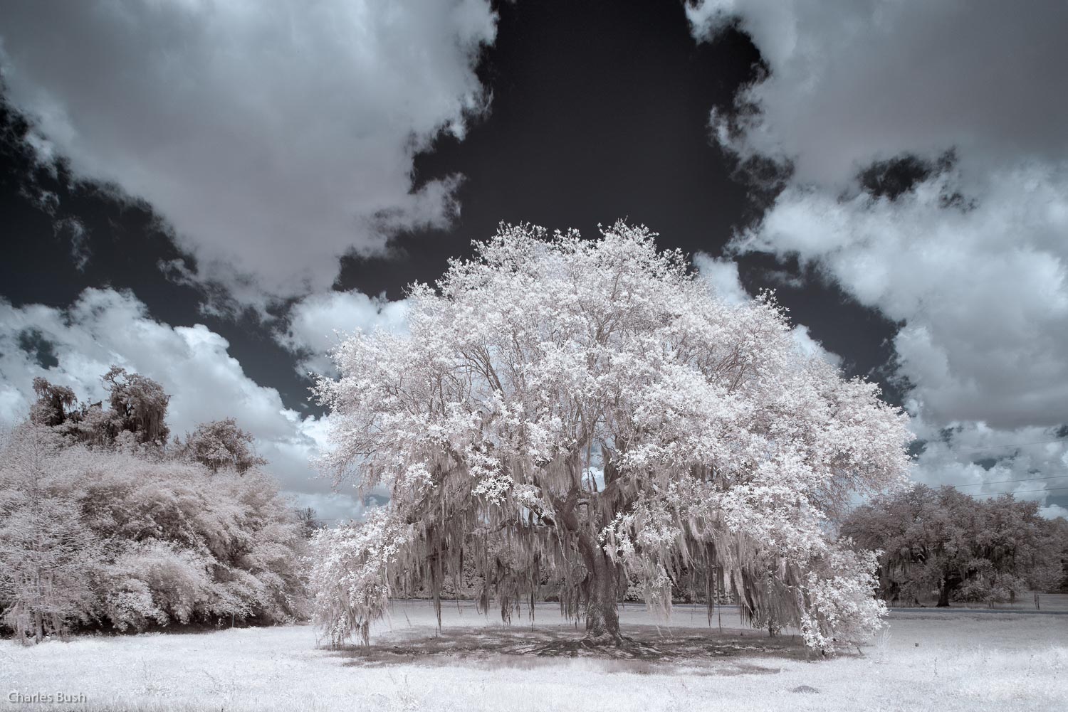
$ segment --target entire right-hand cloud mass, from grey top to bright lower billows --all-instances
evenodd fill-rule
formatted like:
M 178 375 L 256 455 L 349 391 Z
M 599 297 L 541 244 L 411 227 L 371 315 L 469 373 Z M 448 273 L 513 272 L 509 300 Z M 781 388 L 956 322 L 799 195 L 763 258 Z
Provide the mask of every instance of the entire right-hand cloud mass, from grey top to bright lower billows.
M 724 147 L 788 176 L 733 250 L 796 256 L 902 325 L 896 376 L 928 441 L 918 477 L 1053 488 L 1064 443 L 1003 445 L 1053 440 L 1066 420 L 1068 4 L 704 0 L 688 14 L 698 39 L 737 22 L 768 68 L 711 112 Z M 924 170 L 904 192 L 860 179 L 905 157 Z

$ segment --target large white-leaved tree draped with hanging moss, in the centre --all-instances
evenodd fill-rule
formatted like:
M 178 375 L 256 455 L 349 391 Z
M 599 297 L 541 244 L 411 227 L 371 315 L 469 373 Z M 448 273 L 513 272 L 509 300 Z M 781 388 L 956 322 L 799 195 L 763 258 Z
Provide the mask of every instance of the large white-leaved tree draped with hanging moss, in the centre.
M 828 647 L 874 631 L 876 561 L 827 535 L 895 486 L 906 416 L 796 345 L 771 296 L 734 305 L 644 227 L 502 226 L 410 288 L 408 332 L 358 333 L 317 394 L 335 481 L 387 488 L 320 532 L 318 621 L 367 639 L 391 595 L 439 606 L 465 566 L 502 613 L 545 585 L 591 644 L 625 644 L 628 584 L 733 592 L 754 624 Z

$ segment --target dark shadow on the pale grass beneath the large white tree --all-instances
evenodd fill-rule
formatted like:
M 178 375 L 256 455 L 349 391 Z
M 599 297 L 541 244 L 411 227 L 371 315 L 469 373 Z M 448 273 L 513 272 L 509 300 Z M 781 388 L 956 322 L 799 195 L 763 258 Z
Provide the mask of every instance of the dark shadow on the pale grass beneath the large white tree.
M 627 646 L 591 646 L 581 631 L 556 627 L 456 626 L 438 633 L 433 627 L 394 630 L 370 646 L 333 650 L 346 665 L 378 667 L 417 663 L 428 666 L 462 664 L 486 668 L 533 669 L 559 665 L 561 659 L 601 661 L 607 671 L 668 674 L 680 667 L 694 675 L 745 675 L 780 671 L 776 661 L 814 660 L 797 636 L 761 636 L 760 631 L 695 633 L 693 629 L 628 626 L 634 638 Z M 761 662 L 767 664 L 760 664 Z

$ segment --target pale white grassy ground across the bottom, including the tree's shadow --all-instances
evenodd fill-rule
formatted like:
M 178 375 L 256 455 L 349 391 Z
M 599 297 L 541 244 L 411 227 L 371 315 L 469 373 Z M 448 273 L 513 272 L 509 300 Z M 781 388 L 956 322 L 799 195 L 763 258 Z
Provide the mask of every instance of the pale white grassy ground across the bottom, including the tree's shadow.
M 1045 607 L 1045 606 L 1043 606 Z M 731 618 L 728 620 L 727 618 Z M 0 642 L 0 693 L 84 695 L 11 710 L 1065 710 L 1068 616 L 894 614 L 860 651 L 821 659 L 790 635 L 680 608 L 622 614 L 646 647 L 600 658 L 552 604 L 517 616 L 398 603 L 370 648 L 317 647 L 314 629 Z M 653 652 L 649 652 L 653 650 Z M 0 708 L 2 709 L 2 708 Z

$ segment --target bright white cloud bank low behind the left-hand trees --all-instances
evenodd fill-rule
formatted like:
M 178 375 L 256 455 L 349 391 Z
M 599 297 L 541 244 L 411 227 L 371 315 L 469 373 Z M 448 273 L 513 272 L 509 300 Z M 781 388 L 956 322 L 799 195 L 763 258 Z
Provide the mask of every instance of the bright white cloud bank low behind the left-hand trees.
M 100 377 L 120 365 L 155 379 L 171 394 L 173 432 L 236 416 L 255 437 L 268 470 L 300 504 L 315 506 L 325 517 L 361 515 L 356 500 L 332 495 L 329 482 L 314 478 L 309 465 L 326 443 L 329 416 L 286 409 L 278 391 L 246 376 L 227 348 L 226 339 L 206 327 L 160 323 L 135 297 L 112 289 L 87 289 L 66 310 L 14 307 L 0 300 L 0 421 L 26 417 L 36 376 L 95 401 L 106 396 Z

